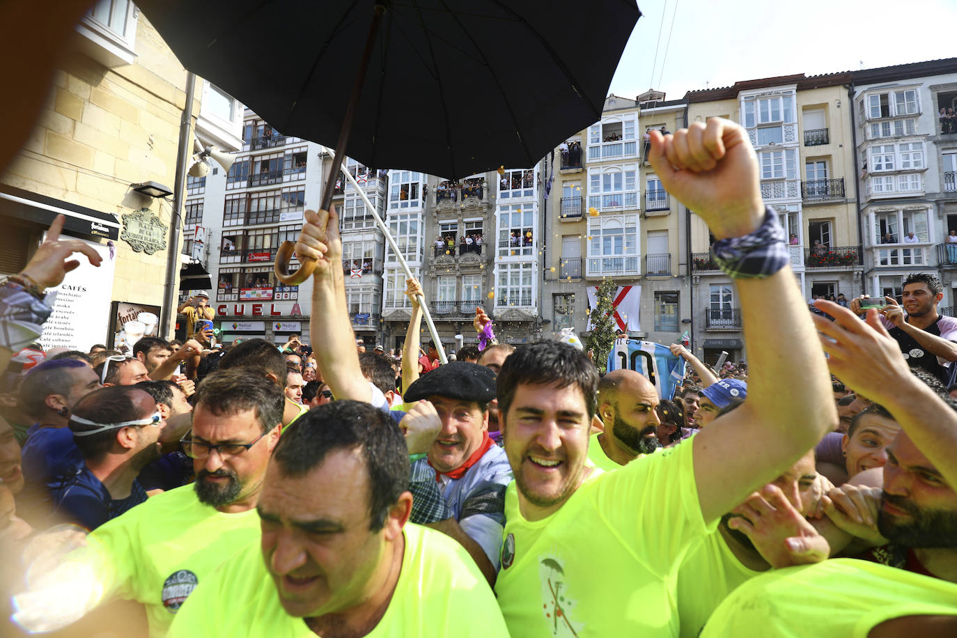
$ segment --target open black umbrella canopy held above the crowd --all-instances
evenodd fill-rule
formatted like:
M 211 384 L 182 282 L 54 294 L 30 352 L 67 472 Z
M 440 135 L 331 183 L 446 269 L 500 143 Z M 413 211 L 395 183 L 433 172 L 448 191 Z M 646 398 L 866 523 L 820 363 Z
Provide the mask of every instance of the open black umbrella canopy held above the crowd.
M 339 137 L 373 2 L 141 0 L 183 65 L 286 135 Z M 386 3 L 346 154 L 458 178 L 601 119 L 634 0 Z

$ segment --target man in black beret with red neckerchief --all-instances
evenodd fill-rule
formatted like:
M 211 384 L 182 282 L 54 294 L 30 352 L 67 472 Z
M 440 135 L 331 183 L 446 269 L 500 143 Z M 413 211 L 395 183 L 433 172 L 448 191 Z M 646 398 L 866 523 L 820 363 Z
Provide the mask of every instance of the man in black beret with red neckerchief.
M 505 451 L 488 435 L 488 402 L 494 398 L 492 370 L 477 363 L 446 363 L 409 386 L 405 400 L 418 401 L 419 409 L 413 408 L 401 424 L 440 422 L 426 457 L 412 464 L 412 476 L 434 477 L 452 517 L 430 527 L 458 540 L 489 583 L 495 583 L 499 569 L 505 488 L 512 480 Z

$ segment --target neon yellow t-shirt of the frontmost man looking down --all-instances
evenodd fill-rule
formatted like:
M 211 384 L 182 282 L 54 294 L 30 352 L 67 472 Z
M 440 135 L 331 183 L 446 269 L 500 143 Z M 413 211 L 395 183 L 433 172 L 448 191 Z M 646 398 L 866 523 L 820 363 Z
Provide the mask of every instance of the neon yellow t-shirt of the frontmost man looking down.
M 402 571 L 392 600 L 367 636 L 507 638 L 492 590 L 461 545 L 412 523 L 404 534 Z M 169 638 L 315 635 L 282 608 L 258 541 L 224 562 L 189 597 L 169 630 Z

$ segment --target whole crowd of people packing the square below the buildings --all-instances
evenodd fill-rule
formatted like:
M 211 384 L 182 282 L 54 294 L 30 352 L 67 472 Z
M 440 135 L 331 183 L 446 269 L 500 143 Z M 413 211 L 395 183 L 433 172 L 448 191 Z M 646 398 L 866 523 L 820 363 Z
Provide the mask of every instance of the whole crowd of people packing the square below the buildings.
M 310 345 L 208 347 L 197 296 L 184 343 L 42 352 L 43 291 L 72 253 L 99 261 L 58 220 L 0 286 L 11 632 L 957 633 L 940 281 L 809 313 L 744 129 L 712 119 L 651 146 L 718 239 L 748 352 L 712 369 L 672 344 L 674 396 L 599 374 L 580 344 L 499 343 L 481 308 L 479 345 L 441 363 L 414 279 L 402 351 L 367 352 L 335 209 L 307 210 L 296 247 L 317 260 Z

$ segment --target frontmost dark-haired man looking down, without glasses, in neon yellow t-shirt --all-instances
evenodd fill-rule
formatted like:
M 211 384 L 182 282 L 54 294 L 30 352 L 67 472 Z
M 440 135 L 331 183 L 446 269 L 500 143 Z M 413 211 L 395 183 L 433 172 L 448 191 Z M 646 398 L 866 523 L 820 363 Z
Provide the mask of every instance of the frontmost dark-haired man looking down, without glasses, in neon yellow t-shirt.
M 409 522 L 403 435 L 355 401 L 282 434 L 256 506 L 261 538 L 189 597 L 182 636 L 507 636 L 454 540 Z

